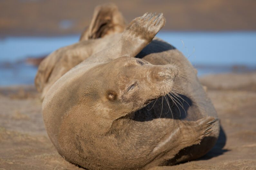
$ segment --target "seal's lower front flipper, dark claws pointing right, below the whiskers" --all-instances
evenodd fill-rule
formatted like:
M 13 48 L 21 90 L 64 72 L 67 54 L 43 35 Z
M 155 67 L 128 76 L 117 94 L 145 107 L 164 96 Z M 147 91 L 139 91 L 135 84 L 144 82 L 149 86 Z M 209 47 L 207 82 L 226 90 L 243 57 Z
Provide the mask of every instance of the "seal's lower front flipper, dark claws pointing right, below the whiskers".
M 166 165 L 180 150 L 200 144 L 204 137 L 210 136 L 216 121 L 218 119 L 214 117 L 204 117 L 198 121 L 174 120 L 174 128 L 153 149 L 152 153 L 156 155 L 156 159 L 152 164 Z

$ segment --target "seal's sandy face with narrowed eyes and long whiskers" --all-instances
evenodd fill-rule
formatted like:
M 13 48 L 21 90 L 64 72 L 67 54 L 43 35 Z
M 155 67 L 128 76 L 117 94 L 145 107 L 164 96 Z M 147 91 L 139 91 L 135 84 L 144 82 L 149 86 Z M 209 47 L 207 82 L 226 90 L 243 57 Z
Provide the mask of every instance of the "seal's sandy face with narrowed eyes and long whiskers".
M 165 96 L 173 88 L 178 69 L 171 64 L 152 65 L 142 59 L 120 57 L 98 66 L 90 74 L 96 74 L 93 77 L 100 81 L 100 101 L 92 109 L 102 113 L 104 108 L 114 116 L 127 115 Z

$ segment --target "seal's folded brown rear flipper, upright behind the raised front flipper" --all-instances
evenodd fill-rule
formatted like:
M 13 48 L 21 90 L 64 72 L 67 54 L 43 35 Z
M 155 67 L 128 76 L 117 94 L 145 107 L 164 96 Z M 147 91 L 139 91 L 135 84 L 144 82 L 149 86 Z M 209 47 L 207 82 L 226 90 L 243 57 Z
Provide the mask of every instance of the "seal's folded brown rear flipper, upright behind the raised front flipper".
M 94 9 L 89 27 L 81 34 L 80 41 L 102 38 L 125 29 L 125 19 L 115 4 L 103 4 Z

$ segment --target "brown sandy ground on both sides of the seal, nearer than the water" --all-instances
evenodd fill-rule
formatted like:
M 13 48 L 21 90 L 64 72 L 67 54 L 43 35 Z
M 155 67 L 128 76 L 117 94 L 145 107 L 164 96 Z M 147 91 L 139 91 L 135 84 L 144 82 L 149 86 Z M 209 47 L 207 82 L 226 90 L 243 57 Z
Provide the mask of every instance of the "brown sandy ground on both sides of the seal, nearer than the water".
M 152 169 L 256 169 L 256 73 L 202 77 L 222 132 L 204 157 Z M 0 170 L 82 169 L 62 158 L 49 140 L 39 94 L 31 86 L 0 88 Z

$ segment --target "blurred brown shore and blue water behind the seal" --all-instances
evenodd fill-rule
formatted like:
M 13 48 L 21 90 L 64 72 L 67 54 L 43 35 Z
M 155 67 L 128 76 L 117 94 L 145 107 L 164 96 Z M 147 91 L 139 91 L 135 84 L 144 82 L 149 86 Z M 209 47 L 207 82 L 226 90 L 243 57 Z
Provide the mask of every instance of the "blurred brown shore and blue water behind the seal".
M 182 51 L 199 76 L 256 70 L 255 0 L 0 0 L 0 86 L 33 84 L 40 59 L 78 42 L 95 6 L 107 2 L 127 23 L 163 13 L 157 36 Z

